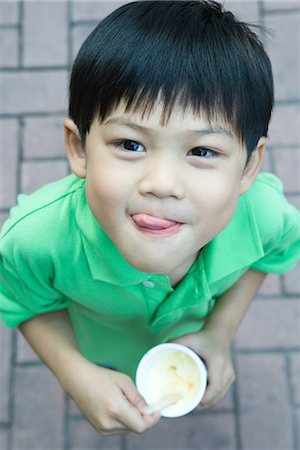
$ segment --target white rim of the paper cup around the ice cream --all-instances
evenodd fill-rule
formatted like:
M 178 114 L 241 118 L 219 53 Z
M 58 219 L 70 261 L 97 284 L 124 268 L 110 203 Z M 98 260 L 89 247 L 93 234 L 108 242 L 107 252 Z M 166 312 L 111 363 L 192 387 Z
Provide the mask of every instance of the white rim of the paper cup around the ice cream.
M 166 344 L 158 344 L 158 345 L 150 348 L 143 355 L 143 357 L 141 358 L 141 360 L 138 364 L 137 371 L 136 371 L 136 386 L 137 386 L 139 393 L 144 397 L 146 402 L 148 404 L 151 404 L 152 399 L 149 396 L 149 391 L 144 382 L 144 373 L 146 370 L 148 370 L 149 363 L 151 362 L 151 359 L 155 355 L 159 354 L 160 352 L 165 352 L 168 350 L 169 351 L 181 351 L 181 352 L 185 353 L 186 355 L 188 355 L 196 363 L 197 368 L 200 372 L 200 379 L 203 380 L 203 382 L 200 383 L 198 392 L 195 395 L 195 397 L 193 398 L 193 400 L 191 400 L 190 403 L 188 403 L 187 405 L 182 407 L 180 409 L 180 411 L 176 411 L 176 409 L 174 410 L 173 406 L 170 406 L 165 409 L 162 409 L 160 412 L 160 415 L 162 417 L 181 417 L 181 416 L 188 414 L 193 409 L 195 409 L 196 406 L 198 406 L 198 404 L 201 402 L 201 400 L 204 396 L 206 386 L 207 386 L 206 365 L 204 364 L 201 357 L 197 353 L 195 353 L 192 349 L 190 349 L 189 347 L 186 347 L 185 345 L 177 344 L 175 342 L 169 342 Z

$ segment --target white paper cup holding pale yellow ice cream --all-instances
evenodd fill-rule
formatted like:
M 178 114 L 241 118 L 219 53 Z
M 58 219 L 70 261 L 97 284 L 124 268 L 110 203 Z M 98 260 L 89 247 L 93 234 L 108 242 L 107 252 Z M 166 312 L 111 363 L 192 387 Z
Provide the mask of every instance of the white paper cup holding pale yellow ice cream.
M 140 360 L 136 372 L 137 389 L 150 407 L 163 405 L 166 402 L 162 399 L 180 392 L 181 397 L 174 404 L 158 408 L 163 417 L 180 417 L 191 412 L 201 402 L 206 385 L 204 362 L 190 348 L 175 343 L 151 348 Z

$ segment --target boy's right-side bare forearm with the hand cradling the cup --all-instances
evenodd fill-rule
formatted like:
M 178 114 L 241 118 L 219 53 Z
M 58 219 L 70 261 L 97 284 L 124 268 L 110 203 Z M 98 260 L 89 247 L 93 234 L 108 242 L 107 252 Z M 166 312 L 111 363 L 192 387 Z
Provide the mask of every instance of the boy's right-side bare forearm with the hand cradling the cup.
M 215 406 L 235 380 L 230 344 L 266 274 L 249 270 L 221 295 L 204 328 L 174 342 L 187 345 L 203 356 L 208 367 L 209 383 L 203 407 Z

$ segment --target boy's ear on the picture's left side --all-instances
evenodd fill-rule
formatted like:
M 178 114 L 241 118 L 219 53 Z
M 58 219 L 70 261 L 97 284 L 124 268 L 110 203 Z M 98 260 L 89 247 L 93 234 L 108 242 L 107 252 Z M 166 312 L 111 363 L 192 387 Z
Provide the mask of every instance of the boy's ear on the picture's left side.
M 80 134 L 72 119 L 64 120 L 65 146 L 71 170 L 79 178 L 86 176 L 86 153 L 82 147 Z

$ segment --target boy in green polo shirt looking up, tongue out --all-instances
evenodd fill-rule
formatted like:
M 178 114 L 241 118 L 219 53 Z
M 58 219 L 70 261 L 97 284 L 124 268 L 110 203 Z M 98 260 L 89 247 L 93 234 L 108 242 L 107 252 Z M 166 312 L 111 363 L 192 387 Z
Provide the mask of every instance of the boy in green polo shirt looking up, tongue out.
M 11 211 L 0 311 L 101 434 L 159 420 L 132 381 L 157 343 L 203 356 L 203 406 L 217 404 L 265 273 L 296 264 L 299 213 L 257 177 L 272 106 L 261 43 L 218 3 L 127 4 L 83 44 L 64 124 L 73 174 Z

